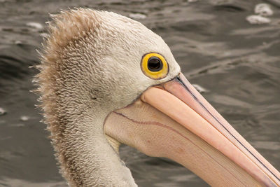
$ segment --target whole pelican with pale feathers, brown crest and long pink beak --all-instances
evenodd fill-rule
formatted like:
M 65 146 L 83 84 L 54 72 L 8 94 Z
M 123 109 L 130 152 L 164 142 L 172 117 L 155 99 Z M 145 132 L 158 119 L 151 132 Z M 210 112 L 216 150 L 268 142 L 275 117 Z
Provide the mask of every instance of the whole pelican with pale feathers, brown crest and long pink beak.
M 280 186 L 279 172 L 195 90 L 150 29 L 87 8 L 52 15 L 48 28 L 36 81 L 69 186 L 137 186 L 120 144 L 174 160 L 211 186 Z

